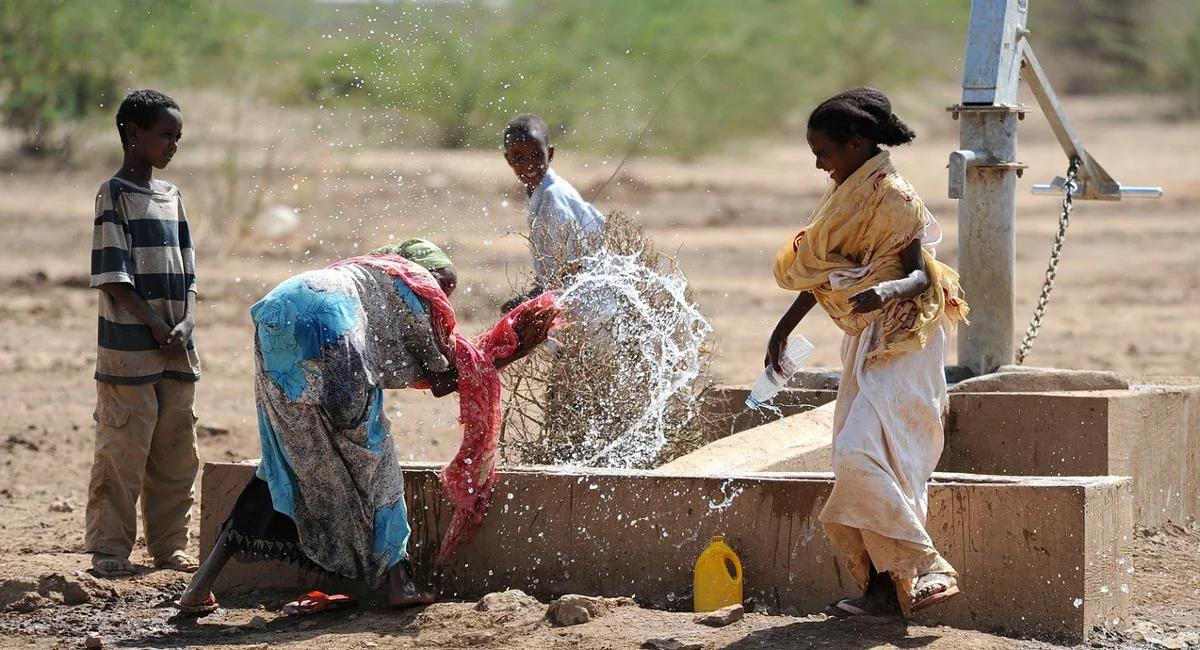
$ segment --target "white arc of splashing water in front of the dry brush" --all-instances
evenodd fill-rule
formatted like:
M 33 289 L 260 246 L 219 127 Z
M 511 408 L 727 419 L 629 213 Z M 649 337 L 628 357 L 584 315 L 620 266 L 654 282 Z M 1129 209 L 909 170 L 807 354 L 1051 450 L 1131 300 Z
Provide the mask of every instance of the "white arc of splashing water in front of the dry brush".
M 688 299 L 683 273 L 647 266 L 640 258 L 602 249 L 583 260 L 583 271 L 560 294 L 570 327 L 582 329 L 614 361 L 617 390 L 608 396 L 610 407 L 631 414 L 589 417 L 582 445 L 564 464 L 647 467 L 678 426 L 673 407 L 686 401 L 684 420 L 698 408 L 689 391 L 713 327 Z

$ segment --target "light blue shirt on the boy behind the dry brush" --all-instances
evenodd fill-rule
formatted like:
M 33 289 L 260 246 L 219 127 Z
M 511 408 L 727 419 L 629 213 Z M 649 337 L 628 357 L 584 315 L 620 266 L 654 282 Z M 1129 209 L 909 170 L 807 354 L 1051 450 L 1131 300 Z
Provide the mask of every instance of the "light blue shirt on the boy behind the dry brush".
M 571 187 L 546 169 L 529 194 L 529 241 L 538 284 L 550 288 L 559 266 L 592 254 L 601 243 L 605 216 Z

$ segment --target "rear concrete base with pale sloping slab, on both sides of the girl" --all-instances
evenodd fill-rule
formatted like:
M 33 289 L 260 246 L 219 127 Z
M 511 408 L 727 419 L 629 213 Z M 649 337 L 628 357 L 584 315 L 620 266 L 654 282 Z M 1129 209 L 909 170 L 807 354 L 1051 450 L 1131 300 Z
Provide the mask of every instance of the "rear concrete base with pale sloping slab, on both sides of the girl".
M 724 390 L 733 395 L 744 389 Z M 787 399 L 803 404 L 829 396 L 827 389 L 792 389 Z M 1130 476 L 1135 525 L 1200 517 L 1200 379 L 1108 391 L 952 392 L 949 398 L 941 471 Z M 752 413 L 732 399 L 730 405 Z M 822 443 L 817 431 L 827 419 L 802 409 L 784 415 L 740 428 L 661 469 L 708 476 L 828 470 L 829 440 Z M 745 422 L 745 415 L 738 417 Z

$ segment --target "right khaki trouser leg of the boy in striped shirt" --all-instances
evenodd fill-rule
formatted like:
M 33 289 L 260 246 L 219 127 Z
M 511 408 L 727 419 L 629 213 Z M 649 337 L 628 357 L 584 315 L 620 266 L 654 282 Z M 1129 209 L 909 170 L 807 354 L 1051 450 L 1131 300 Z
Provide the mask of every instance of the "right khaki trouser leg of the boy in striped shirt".
M 155 384 L 158 422 L 150 441 L 142 486 L 142 516 L 146 548 L 162 562 L 187 548 L 187 525 L 196 502 L 196 383 L 163 379 Z M 194 562 L 194 560 L 191 560 Z M 190 562 L 190 564 L 191 564 Z M 194 570 L 194 564 L 192 565 Z

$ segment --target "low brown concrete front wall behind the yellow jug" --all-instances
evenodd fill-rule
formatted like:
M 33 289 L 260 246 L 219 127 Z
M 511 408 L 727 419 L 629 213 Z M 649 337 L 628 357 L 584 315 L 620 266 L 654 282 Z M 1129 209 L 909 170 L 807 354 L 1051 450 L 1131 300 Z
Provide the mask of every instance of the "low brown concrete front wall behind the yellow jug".
M 251 464 L 205 465 L 204 553 L 252 473 Z M 409 552 L 427 571 L 450 511 L 437 467 L 406 465 L 406 473 Z M 688 609 L 692 564 L 720 532 L 742 558 L 748 598 L 769 612 L 817 612 L 853 591 L 817 522 L 832 483 L 822 474 L 504 471 L 484 529 L 446 567 L 443 594 L 473 598 L 512 586 L 542 600 L 625 595 Z M 1126 616 L 1129 596 L 1120 586 L 1132 528 L 1128 480 L 941 474 L 930 512 L 930 532 L 961 572 L 964 595 L 918 620 L 1081 642 L 1093 626 Z M 218 588 L 314 583 L 278 564 L 234 564 Z

